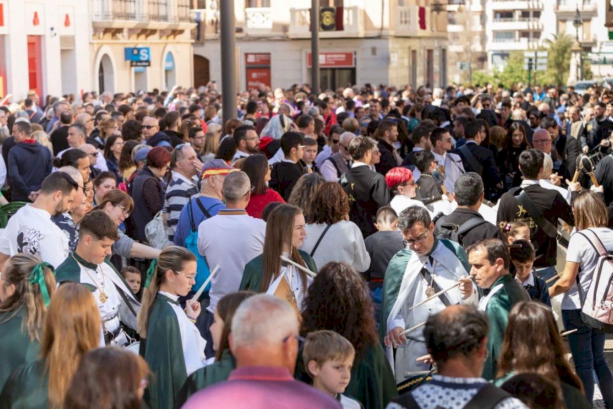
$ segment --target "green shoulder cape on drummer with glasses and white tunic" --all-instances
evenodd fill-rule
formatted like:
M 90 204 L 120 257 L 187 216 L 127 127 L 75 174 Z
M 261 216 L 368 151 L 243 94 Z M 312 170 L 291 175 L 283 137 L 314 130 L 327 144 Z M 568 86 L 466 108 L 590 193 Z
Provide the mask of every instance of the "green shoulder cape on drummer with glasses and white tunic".
M 445 247 L 447 247 L 452 253 L 457 256 L 462 266 L 467 272 L 470 272 L 470 264 L 468 264 L 468 256 L 466 251 L 459 243 L 452 242 L 451 240 L 435 240 L 433 249 L 436 248 L 437 242 L 440 241 Z M 398 251 L 387 265 L 385 278 L 383 280 L 383 299 L 381 301 L 381 315 L 379 316 L 379 338 L 383 345 L 383 338 L 387 335 L 387 316 L 392 311 L 396 299 L 398 298 L 398 292 L 400 292 L 400 285 L 402 284 L 402 278 L 405 275 L 406 264 L 411 259 L 412 251 L 408 248 L 403 248 Z

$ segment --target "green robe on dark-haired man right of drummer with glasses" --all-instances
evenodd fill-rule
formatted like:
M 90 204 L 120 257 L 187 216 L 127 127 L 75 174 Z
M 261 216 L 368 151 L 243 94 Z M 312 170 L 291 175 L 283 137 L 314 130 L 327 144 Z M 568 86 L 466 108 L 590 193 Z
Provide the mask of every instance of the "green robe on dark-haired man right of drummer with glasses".
M 490 331 L 487 334 L 489 355 L 483 367 L 482 377 L 489 381 L 492 381 L 496 375 L 496 365 L 502 349 L 504 329 L 506 329 L 506 323 L 509 321 L 511 308 L 520 301 L 530 301 L 528 292 L 511 277 L 511 274 L 498 278 L 493 283 L 492 289 L 499 284 L 503 286 L 493 294 L 485 306 L 485 313 L 490 322 Z

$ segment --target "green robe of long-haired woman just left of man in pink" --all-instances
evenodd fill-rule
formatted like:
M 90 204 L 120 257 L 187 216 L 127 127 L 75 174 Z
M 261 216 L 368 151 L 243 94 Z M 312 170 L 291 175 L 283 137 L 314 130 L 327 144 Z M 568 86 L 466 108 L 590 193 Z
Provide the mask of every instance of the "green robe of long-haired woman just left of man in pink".
M 183 388 L 179 391 L 175 408 L 180 408 L 183 404 L 200 389 L 204 389 L 212 384 L 226 381 L 236 368 L 236 359 L 230 353 L 230 350 L 224 350 L 221 353 L 221 359 L 200 368 L 196 372 L 189 375 L 188 379 L 183 384 Z

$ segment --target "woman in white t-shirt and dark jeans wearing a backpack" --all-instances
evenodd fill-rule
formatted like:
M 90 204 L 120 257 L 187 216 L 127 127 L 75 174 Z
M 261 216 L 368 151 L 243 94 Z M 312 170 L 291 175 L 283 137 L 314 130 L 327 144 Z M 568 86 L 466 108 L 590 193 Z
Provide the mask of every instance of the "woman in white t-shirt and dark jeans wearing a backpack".
M 573 213 L 577 231 L 571 235 L 568 243 L 562 277 L 549 288 L 549 296 L 564 294 L 562 322 L 566 331 L 577 330 L 567 335 L 568 346 L 588 402 L 592 403 L 593 372 L 596 372 L 604 404 L 613 408 L 613 377 L 604 361 L 606 333 L 585 324 L 581 316 L 587 289 L 598 273 L 600 254 L 596 246 L 603 247 L 607 252 L 613 251 L 613 230 L 607 228 L 607 210 L 603 199 L 593 191 L 582 191 L 573 199 Z

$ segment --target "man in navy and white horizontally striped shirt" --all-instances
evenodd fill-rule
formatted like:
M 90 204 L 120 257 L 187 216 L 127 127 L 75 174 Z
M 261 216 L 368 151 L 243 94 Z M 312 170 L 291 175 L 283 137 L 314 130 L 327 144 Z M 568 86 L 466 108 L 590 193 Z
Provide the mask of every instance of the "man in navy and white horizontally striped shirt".
M 198 178 L 202 172 L 202 162 L 196 151 L 188 143 L 180 143 L 170 156 L 172 169 L 170 183 L 166 188 L 166 234 L 169 242 L 175 239 L 175 229 L 183 207 L 192 196 L 199 193 Z

